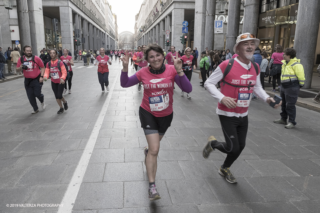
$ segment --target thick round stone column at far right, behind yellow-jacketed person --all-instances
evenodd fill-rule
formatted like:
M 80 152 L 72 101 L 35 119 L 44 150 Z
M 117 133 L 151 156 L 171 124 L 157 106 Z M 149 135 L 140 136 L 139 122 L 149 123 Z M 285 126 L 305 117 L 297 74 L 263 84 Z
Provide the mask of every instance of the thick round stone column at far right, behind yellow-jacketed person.
M 310 14 L 318 14 L 310 16 Z M 313 64 L 316 53 L 316 40 L 318 38 L 320 22 L 320 1 L 300 1 L 296 32 L 293 48 L 297 51 L 297 59 L 304 68 L 305 83 L 303 89 L 310 89 L 313 74 Z M 306 36 L 307 35 L 307 36 Z M 307 39 L 306 39 L 307 38 Z

